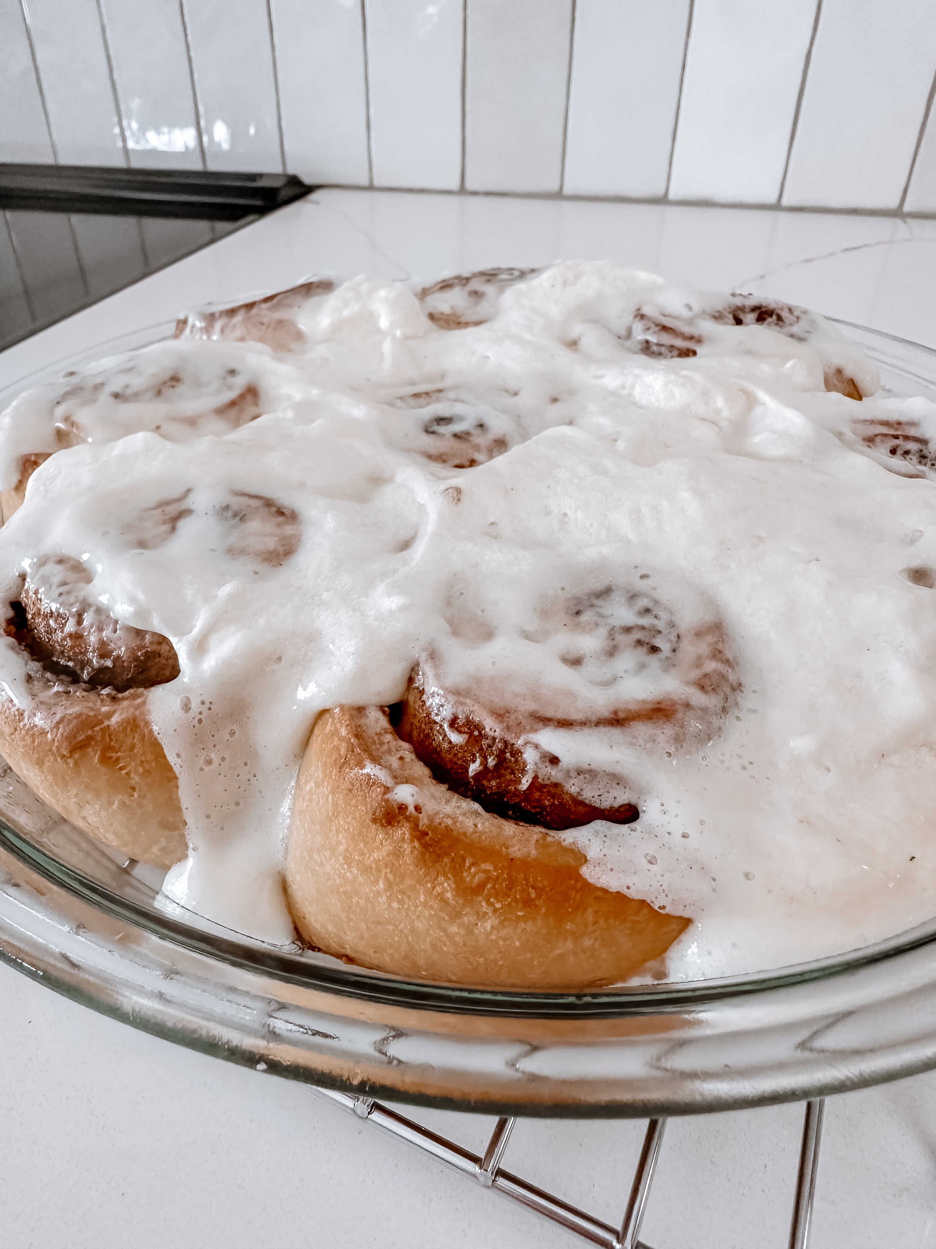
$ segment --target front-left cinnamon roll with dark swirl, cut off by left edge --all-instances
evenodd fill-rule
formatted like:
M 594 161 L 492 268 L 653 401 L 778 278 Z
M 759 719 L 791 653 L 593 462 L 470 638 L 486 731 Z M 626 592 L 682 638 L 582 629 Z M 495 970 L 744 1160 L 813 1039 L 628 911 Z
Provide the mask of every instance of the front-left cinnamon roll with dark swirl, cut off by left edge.
M 72 824 L 171 867 L 185 858 L 186 822 L 146 691 L 173 681 L 178 658 L 167 638 L 94 603 L 90 582 L 67 556 L 26 573 L 5 626 L 20 679 L 0 684 L 0 753 Z

